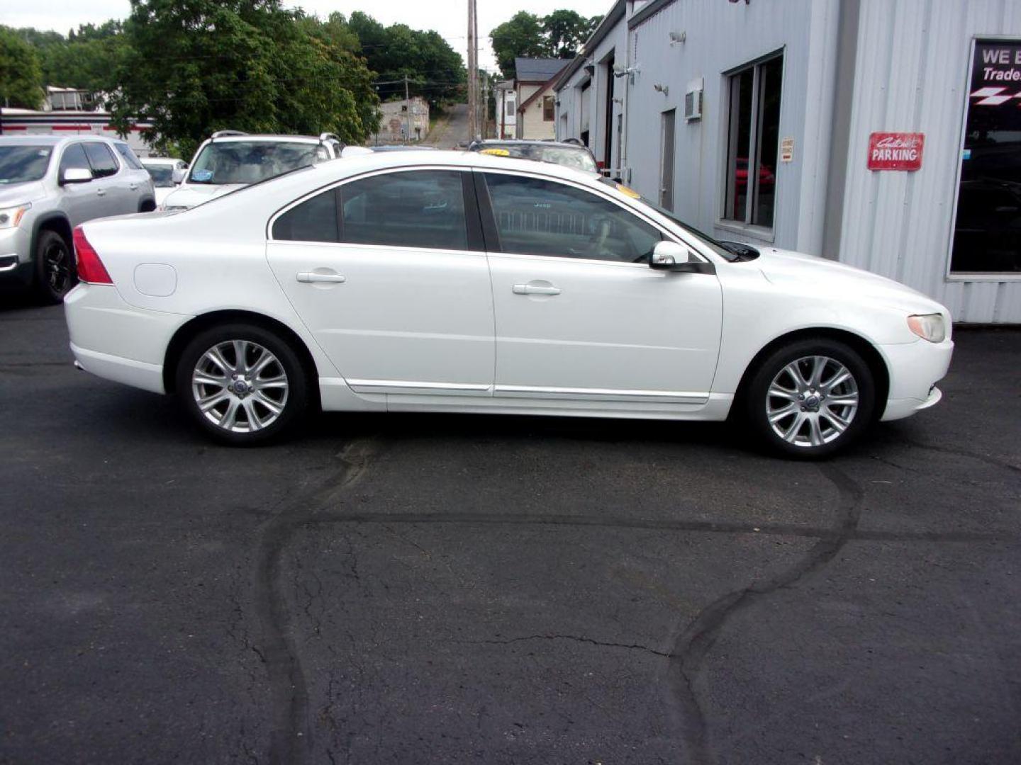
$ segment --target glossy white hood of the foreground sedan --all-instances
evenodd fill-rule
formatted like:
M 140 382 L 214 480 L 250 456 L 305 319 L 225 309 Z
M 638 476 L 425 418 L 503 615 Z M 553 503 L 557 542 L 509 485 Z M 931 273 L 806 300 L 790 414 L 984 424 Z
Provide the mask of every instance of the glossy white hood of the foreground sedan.
M 764 247 L 753 262 L 775 285 L 804 285 L 817 294 L 865 298 L 914 313 L 946 313 L 943 306 L 917 290 L 835 260 Z

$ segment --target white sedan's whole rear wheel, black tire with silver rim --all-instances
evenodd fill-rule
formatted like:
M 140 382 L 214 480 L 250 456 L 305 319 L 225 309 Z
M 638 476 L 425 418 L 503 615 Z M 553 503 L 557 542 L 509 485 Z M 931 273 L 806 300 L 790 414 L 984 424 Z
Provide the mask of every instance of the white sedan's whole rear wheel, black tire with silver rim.
M 251 364 L 255 367 L 257 360 L 265 358 L 259 353 L 260 349 L 269 352 L 273 361 L 268 362 L 257 374 L 236 375 L 239 369 L 236 359 L 238 346 L 234 341 L 247 344 L 242 346 L 246 349 L 244 366 Z M 223 364 L 217 366 L 212 356 L 206 356 L 212 349 L 218 350 L 221 361 L 230 367 L 225 369 L 223 375 L 230 388 L 222 389 L 218 381 L 214 385 L 195 381 L 194 375 L 200 368 L 207 374 L 198 379 L 212 375 L 218 380 Z M 279 382 L 281 373 L 286 377 L 283 390 Z M 278 381 L 263 389 L 259 380 L 265 384 Z M 252 446 L 279 439 L 305 415 L 311 401 L 311 380 L 290 344 L 270 329 L 243 322 L 214 326 L 195 336 L 181 354 L 175 381 L 182 405 L 199 427 L 216 441 L 232 446 Z M 248 390 L 236 392 L 233 386 L 238 382 Z M 221 398 L 211 409 L 203 411 L 197 397 L 201 397 L 208 406 L 217 396 L 227 398 Z M 273 414 L 269 404 L 263 403 L 266 400 L 280 409 L 279 414 Z M 231 419 L 231 406 L 234 407 L 234 419 Z M 227 425 L 231 423 L 233 425 L 228 429 Z

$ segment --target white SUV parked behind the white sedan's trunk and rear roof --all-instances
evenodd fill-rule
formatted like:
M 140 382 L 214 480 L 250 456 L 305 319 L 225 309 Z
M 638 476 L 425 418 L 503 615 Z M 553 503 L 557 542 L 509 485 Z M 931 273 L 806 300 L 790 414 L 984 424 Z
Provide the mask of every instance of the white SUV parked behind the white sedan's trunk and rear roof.
M 195 152 L 189 170 L 174 171 L 179 187 L 166 195 L 160 209 L 187 210 L 298 167 L 336 159 L 343 148 L 332 133 L 319 138 L 213 133 Z

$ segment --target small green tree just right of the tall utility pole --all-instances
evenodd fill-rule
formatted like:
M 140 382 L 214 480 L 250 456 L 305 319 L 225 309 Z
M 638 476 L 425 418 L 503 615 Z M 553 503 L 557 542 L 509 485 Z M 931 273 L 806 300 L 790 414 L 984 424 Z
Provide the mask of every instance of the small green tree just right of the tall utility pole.
M 542 17 L 522 10 L 493 28 L 489 40 L 500 72 L 512 79 L 519 56 L 573 58 L 601 20 L 602 16 L 586 18 L 573 10 L 554 10 Z

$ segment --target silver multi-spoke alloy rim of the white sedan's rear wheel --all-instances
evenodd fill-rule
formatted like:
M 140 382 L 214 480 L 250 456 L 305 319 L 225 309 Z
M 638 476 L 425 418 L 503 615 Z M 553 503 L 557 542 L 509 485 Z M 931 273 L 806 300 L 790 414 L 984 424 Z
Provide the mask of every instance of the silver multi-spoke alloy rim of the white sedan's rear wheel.
M 207 350 L 192 371 L 192 396 L 202 415 L 231 432 L 272 425 L 287 406 L 287 371 L 269 350 L 227 340 Z

